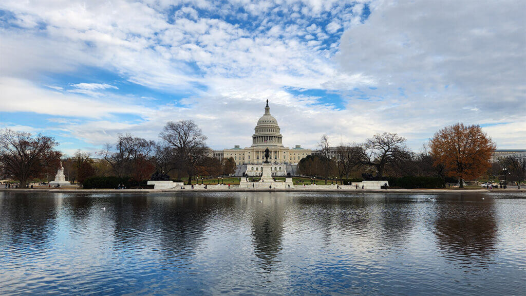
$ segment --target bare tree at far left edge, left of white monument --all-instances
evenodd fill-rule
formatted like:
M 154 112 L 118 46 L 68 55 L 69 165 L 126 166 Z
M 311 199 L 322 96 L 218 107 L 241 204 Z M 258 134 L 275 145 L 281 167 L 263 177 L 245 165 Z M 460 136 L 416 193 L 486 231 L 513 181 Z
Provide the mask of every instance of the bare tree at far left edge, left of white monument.
M 60 152 L 55 150 L 58 142 L 52 137 L 12 130 L 0 131 L 0 167 L 17 179 L 22 188 L 27 181 L 42 176 L 46 171 L 56 172 Z

